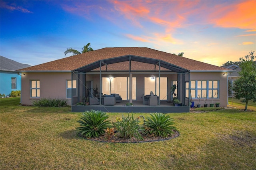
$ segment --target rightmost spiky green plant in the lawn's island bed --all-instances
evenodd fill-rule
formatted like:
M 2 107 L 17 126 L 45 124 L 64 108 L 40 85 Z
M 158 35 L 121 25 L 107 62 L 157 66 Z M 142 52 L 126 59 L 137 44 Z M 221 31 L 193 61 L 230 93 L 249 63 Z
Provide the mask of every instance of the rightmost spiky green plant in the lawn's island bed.
M 150 114 L 150 117 L 147 117 L 145 121 L 145 127 L 148 129 L 149 134 L 163 137 L 167 137 L 173 133 L 172 130 L 176 130 L 176 127 L 172 126 L 173 124 L 173 119 L 162 113 Z

